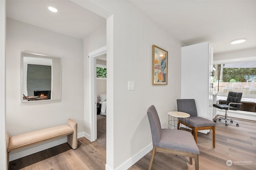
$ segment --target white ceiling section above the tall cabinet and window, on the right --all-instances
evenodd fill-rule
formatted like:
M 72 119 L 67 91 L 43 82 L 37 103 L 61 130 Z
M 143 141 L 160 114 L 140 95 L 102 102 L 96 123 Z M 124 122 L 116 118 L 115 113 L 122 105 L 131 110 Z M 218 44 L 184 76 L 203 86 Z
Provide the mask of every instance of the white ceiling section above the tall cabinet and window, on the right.
M 209 41 L 214 53 L 256 47 L 256 1 L 131 1 L 186 45 Z M 231 45 L 234 39 L 246 38 Z

